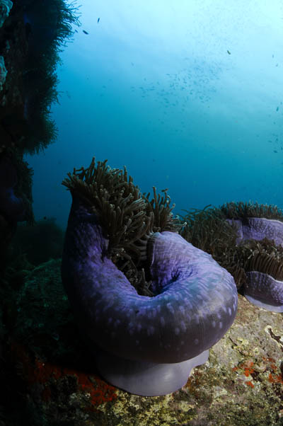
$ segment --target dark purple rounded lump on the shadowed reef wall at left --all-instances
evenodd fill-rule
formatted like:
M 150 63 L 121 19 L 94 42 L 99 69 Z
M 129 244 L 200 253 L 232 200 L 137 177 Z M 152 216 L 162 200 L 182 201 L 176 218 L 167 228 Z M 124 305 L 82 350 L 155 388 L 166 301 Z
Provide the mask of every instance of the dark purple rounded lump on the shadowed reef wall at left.
M 7 221 L 25 220 L 23 200 L 16 197 L 14 188 L 18 183 L 16 167 L 11 159 L 4 155 L 0 158 L 0 214 Z

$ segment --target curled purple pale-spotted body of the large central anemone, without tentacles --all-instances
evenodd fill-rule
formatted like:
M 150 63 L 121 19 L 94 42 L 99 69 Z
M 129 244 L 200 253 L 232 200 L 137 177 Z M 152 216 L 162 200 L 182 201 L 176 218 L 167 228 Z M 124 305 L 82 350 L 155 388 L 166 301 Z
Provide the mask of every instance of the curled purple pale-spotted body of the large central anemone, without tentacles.
M 233 277 L 179 234 L 155 232 L 146 246 L 155 294 L 137 294 L 108 257 L 98 216 L 71 193 L 62 281 L 98 371 L 137 395 L 178 390 L 233 323 Z

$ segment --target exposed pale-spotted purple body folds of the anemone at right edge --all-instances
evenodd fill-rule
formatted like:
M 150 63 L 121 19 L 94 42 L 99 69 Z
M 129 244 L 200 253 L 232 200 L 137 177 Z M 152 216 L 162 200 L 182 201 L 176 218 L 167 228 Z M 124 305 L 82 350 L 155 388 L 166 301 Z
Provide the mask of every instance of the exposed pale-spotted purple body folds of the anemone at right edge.
M 264 238 L 273 240 L 276 246 L 283 246 L 283 222 L 265 217 L 248 217 L 246 219 L 226 219 L 236 224 L 238 238 L 236 243 L 245 240 L 260 241 Z M 250 303 L 272 312 L 283 312 L 283 282 L 271 275 L 259 272 L 246 272 L 244 295 Z

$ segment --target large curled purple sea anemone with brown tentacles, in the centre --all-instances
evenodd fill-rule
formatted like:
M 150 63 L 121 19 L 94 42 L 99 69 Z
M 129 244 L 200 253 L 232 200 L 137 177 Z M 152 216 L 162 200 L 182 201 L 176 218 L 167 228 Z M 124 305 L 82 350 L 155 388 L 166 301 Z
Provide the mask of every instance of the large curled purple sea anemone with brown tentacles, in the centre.
M 62 280 L 100 374 L 139 395 L 177 390 L 233 323 L 233 277 L 176 232 L 167 192 L 149 201 L 126 169 L 93 159 L 63 184 L 73 202 Z M 142 270 L 150 295 L 125 263 Z

